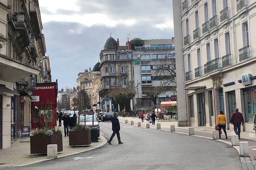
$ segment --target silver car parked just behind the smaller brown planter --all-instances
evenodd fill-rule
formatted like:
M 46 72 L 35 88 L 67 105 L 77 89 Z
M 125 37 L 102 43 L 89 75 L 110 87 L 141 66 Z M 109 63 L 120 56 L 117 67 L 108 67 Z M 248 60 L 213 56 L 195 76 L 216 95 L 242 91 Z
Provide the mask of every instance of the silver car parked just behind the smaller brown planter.
M 78 119 L 77 119 L 77 124 L 78 124 Z M 98 136 L 99 136 L 99 121 L 98 121 L 96 115 L 80 115 L 79 125 L 86 125 L 88 127 L 97 127 L 98 128 Z

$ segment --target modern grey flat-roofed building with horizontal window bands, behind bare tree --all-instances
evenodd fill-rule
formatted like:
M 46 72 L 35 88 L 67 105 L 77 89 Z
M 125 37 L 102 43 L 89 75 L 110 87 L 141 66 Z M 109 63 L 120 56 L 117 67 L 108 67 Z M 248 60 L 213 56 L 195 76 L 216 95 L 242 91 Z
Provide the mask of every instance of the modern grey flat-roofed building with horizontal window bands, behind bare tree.
M 135 47 L 134 57 L 134 85 L 135 101 L 134 110 L 152 110 L 154 106 L 160 106 L 161 102 L 171 100 L 176 96 L 173 91 L 163 91 L 164 79 L 171 79 L 170 75 L 156 74 L 157 68 L 167 67 L 175 70 L 175 45 L 174 38 L 144 40 L 142 47 Z

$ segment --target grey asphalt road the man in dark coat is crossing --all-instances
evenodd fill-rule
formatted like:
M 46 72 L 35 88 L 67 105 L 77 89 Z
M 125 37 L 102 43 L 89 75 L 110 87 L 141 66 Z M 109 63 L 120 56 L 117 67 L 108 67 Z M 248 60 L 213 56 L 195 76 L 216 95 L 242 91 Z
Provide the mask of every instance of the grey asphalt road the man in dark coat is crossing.
M 120 123 L 118 144 L 85 153 L 49 160 L 14 170 L 241 170 L 239 153 L 230 145 L 209 139 L 144 129 Z M 111 122 L 101 122 L 100 129 L 108 140 Z

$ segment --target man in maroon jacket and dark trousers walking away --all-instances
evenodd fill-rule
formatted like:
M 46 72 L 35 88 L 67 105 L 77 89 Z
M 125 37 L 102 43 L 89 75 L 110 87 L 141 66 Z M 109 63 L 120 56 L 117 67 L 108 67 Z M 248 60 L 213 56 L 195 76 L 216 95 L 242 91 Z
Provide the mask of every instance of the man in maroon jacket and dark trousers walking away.
M 244 125 L 244 117 L 243 114 L 239 112 L 238 108 L 236 108 L 235 112 L 232 113 L 230 122 L 234 125 L 234 131 L 240 139 L 241 124 Z

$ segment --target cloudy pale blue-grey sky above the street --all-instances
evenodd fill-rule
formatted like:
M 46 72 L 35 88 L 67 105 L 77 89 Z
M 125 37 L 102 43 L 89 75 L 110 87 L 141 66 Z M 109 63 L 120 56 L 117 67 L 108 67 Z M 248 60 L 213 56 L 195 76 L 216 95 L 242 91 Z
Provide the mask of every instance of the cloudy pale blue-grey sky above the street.
M 172 0 L 39 0 L 52 79 L 76 86 L 79 72 L 93 66 L 105 40 L 174 37 Z M 130 34 L 130 35 L 129 35 Z

